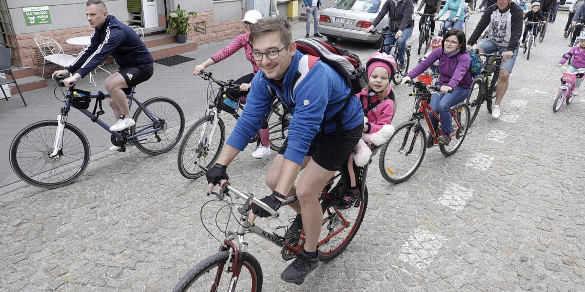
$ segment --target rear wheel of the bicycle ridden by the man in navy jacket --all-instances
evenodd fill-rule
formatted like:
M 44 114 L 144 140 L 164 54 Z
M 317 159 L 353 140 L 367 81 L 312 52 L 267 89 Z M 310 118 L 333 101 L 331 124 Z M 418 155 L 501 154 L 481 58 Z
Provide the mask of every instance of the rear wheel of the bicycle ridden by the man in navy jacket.
M 136 122 L 130 128 L 130 133 L 136 135 L 142 131 L 150 131 L 162 125 L 160 130 L 135 138 L 138 150 L 149 154 L 159 155 L 170 151 L 177 145 L 185 128 L 183 109 L 172 99 L 159 96 L 143 103 L 144 108 L 138 107 L 133 119 Z

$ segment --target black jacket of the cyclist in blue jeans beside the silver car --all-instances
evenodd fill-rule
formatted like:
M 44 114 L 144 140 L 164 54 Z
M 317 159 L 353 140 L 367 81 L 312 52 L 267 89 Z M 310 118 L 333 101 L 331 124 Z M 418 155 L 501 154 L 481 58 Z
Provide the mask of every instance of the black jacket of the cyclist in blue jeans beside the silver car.
M 400 0 L 397 5 L 394 4 L 393 0 L 387 0 L 371 25 L 377 26 L 386 13 L 388 13 L 388 27 L 390 27 L 391 32 L 414 27 L 414 20 L 412 20 L 414 5 L 412 5 L 412 0 Z

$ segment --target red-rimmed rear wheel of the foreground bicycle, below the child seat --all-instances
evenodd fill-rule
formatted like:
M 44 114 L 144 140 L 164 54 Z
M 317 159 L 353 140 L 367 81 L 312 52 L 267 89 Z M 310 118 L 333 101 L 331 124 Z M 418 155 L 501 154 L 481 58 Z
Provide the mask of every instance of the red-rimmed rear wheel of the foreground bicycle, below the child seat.
M 341 175 L 340 181 L 333 187 L 332 192 L 323 194 L 321 197 L 321 208 L 324 210 L 324 215 L 321 221 L 321 235 L 319 235 L 317 251 L 319 252 L 319 260 L 323 262 L 334 259 L 345 250 L 347 245 L 352 242 L 353 237 L 356 236 L 366 214 L 367 186 L 364 187 L 364 192 L 360 193 L 363 201 L 356 202 L 356 204 L 359 203 L 359 206 L 353 206 L 346 210 L 339 210 L 336 207 L 338 203 L 336 197 L 339 193 L 345 194 L 347 187 L 349 187 L 349 178 L 346 176 Z

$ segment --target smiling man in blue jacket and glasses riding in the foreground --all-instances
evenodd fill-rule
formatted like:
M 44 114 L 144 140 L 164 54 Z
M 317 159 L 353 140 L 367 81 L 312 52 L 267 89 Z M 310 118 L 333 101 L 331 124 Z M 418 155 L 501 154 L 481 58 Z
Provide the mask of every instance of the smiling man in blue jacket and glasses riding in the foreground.
M 335 69 L 315 59 L 312 68 L 307 65 L 311 64 L 311 58 L 297 51 L 292 41 L 292 26 L 287 20 L 258 20 L 250 32 L 250 42 L 253 44 L 251 54 L 260 72 L 252 79 L 246 106 L 218 163 L 205 175 L 209 193 L 221 179 L 228 179 L 226 168 L 258 131 L 263 117 L 270 113 L 274 92 L 290 110 L 292 120 L 287 140 L 266 177 L 266 184 L 273 192 L 261 201 L 278 210 L 286 197 L 298 197 L 298 203 L 291 204 L 298 215 L 287 234 L 295 234 L 302 228 L 305 245 L 301 255 L 281 274 L 281 279 L 300 284 L 319 265 L 316 245 L 323 217 L 319 194 L 362 137 L 362 106 Z M 340 117 L 336 115 L 338 112 L 342 114 Z M 334 116 L 340 118 L 340 128 L 336 127 Z M 321 132 L 322 127 L 324 132 Z M 336 144 L 336 138 L 342 141 Z M 301 169 L 304 171 L 295 186 Z M 249 218 L 252 224 L 256 216 L 270 215 L 256 204 L 252 213 Z

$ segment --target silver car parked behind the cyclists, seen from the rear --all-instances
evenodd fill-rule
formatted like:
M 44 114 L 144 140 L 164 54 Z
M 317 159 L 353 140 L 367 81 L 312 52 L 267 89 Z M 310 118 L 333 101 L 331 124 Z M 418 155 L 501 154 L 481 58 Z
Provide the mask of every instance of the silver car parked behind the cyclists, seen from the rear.
M 380 47 L 380 34 L 364 33 L 374 21 L 386 0 L 339 0 L 332 8 L 324 9 L 319 18 L 319 33 L 330 41 L 346 39 L 373 43 Z M 376 26 L 382 30 L 388 26 L 388 15 Z

